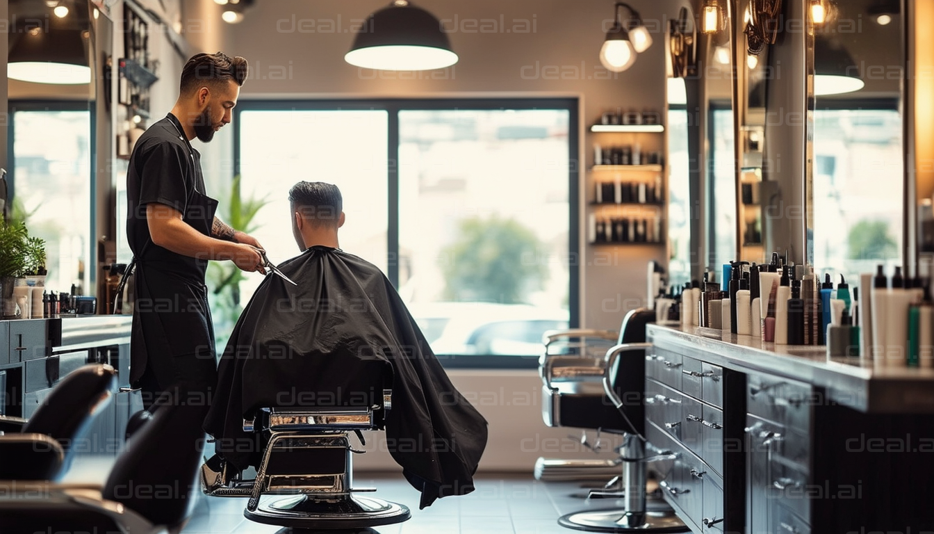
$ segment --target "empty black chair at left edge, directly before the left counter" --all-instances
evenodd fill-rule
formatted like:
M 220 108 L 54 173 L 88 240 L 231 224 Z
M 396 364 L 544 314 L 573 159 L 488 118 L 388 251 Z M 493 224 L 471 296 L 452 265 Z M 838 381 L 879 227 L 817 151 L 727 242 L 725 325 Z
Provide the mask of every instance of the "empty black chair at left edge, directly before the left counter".
M 0 415 L 0 480 L 58 480 L 116 385 L 114 368 L 86 365 L 55 385 L 28 420 Z

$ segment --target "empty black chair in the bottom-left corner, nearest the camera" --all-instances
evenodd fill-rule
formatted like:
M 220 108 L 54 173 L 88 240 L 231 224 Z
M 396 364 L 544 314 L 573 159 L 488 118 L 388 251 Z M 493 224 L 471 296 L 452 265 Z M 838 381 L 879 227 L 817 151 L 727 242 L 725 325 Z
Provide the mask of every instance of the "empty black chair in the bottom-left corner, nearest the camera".
M 178 394 L 181 395 L 181 394 Z M 160 401 L 117 457 L 103 487 L 0 481 L 4 532 L 177 533 L 191 517 L 204 407 Z

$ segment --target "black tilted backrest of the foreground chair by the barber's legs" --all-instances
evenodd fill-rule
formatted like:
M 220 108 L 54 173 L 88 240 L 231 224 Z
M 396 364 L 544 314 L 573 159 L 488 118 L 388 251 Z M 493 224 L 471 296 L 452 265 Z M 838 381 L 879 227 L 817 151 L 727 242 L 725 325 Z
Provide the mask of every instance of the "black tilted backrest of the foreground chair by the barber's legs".
M 170 388 L 152 407 L 117 457 L 102 491 L 153 525 L 169 529 L 191 516 L 204 445 L 203 402 L 186 402 L 184 388 Z M 203 398 L 203 397 L 201 397 Z

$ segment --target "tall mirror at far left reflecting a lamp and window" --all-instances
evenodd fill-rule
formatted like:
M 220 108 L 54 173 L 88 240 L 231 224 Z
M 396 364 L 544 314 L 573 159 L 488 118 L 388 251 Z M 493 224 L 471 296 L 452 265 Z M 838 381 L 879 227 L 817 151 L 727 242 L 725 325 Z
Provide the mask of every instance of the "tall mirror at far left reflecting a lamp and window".
M 101 44 L 112 24 L 89 0 L 8 7 L 10 211 L 46 240 L 46 286 L 67 293 L 75 284 L 91 295 L 96 182 L 108 169 L 111 137 Z

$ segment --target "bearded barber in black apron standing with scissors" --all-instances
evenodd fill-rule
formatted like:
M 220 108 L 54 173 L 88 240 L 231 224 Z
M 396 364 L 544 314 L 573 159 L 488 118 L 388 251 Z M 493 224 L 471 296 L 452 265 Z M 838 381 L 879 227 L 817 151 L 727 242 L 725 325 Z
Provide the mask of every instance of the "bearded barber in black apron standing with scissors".
M 201 154 L 190 142 L 206 143 L 231 122 L 246 78 L 242 57 L 192 56 L 175 107 L 149 126 L 130 156 L 127 237 L 136 265 L 130 382 L 142 389 L 147 409 L 161 392 L 183 386 L 188 402 L 204 402 L 207 410 L 217 382 L 207 261 L 264 272 L 260 243 L 215 217 L 218 202 L 205 193 Z

